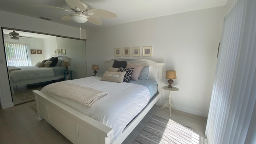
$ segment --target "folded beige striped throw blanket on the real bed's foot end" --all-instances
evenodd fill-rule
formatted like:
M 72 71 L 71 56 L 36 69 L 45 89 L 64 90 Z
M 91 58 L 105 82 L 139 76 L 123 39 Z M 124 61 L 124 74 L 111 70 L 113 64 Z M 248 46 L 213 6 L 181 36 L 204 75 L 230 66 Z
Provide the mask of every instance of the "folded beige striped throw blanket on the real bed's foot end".
M 79 102 L 85 106 L 93 106 L 93 104 L 105 96 L 108 92 L 96 90 L 85 86 L 70 84 L 67 82 L 56 82 L 45 86 L 44 91 L 48 94 L 54 94 L 63 98 L 68 98 Z

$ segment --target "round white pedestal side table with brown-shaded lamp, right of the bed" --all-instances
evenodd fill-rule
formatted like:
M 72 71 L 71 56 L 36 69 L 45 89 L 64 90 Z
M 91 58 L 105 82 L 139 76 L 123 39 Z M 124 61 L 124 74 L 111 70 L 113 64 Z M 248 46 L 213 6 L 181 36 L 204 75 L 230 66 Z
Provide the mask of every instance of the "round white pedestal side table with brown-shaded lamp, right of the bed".
M 173 84 L 173 80 L 172 79 L 176 79 L 176 71 L 175 70 L 167 70 L 166 71 L 166 76 L 165 78 L 169 79 L 168 80 L 168 83 L 169 83 L 169 86 L 164 86 L 163 89 L 164 90 L 168 90 L 169 92 L 169 97 L 168 97 L 168 102 L 164 104 L 164 106 L 162 106 L 161 108 L 165 108 L 167 105 L 169 106 L 169 114 L 171 116 L 171 107 L 173 110 L 176 110 L 176 108 L 174 108 L 173 104 L 171 103 L 171 100 L 172 100 L 172 92 L 174 91 L 179 91 L 178 88 L 172 86 Z

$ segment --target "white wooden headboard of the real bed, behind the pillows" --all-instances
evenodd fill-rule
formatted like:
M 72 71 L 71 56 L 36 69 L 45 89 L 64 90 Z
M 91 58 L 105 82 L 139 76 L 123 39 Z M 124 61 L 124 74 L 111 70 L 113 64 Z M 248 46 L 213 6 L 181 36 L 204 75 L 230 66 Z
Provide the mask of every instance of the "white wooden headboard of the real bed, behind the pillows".
M 140 64 L 144 66 L 149 66 L 149 79 L 156 80 L 158 84 L 158 92 L 161 93 L 162 90 L 162 72 L 163 72 L 163 66 L 164 63 L 158 63 L 154 62 L 152 60 L 146 60 L 146 59 L 113 59 L 106 61 L 106 68 L 112 67 L 114 60 L 118 61 L 126 61 L 128 63 L 132 64 Z

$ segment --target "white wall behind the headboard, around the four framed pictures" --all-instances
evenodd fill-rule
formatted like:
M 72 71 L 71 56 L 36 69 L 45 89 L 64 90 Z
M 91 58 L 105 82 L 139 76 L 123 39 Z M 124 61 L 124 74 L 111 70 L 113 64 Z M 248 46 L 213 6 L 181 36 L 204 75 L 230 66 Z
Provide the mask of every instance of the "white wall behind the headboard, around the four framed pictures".
M 165 63 L 166 70 L 176 70 L 172 103 L 181 111 L 207 117 L 214 82 L 218 44 L 220 42 L 224 6 L 185 12 L 170 16 L 130 22 L 104 28 L 86 29 L 87 72 L 99 64 L 98 73 L 106 71 L 105 60 L 114 56 L 114 48 L 153 46 L 152 57 Z M 162 86 L 167 86 L 163 77 Z M 162 90 L 161 102 L 168 92 Z

